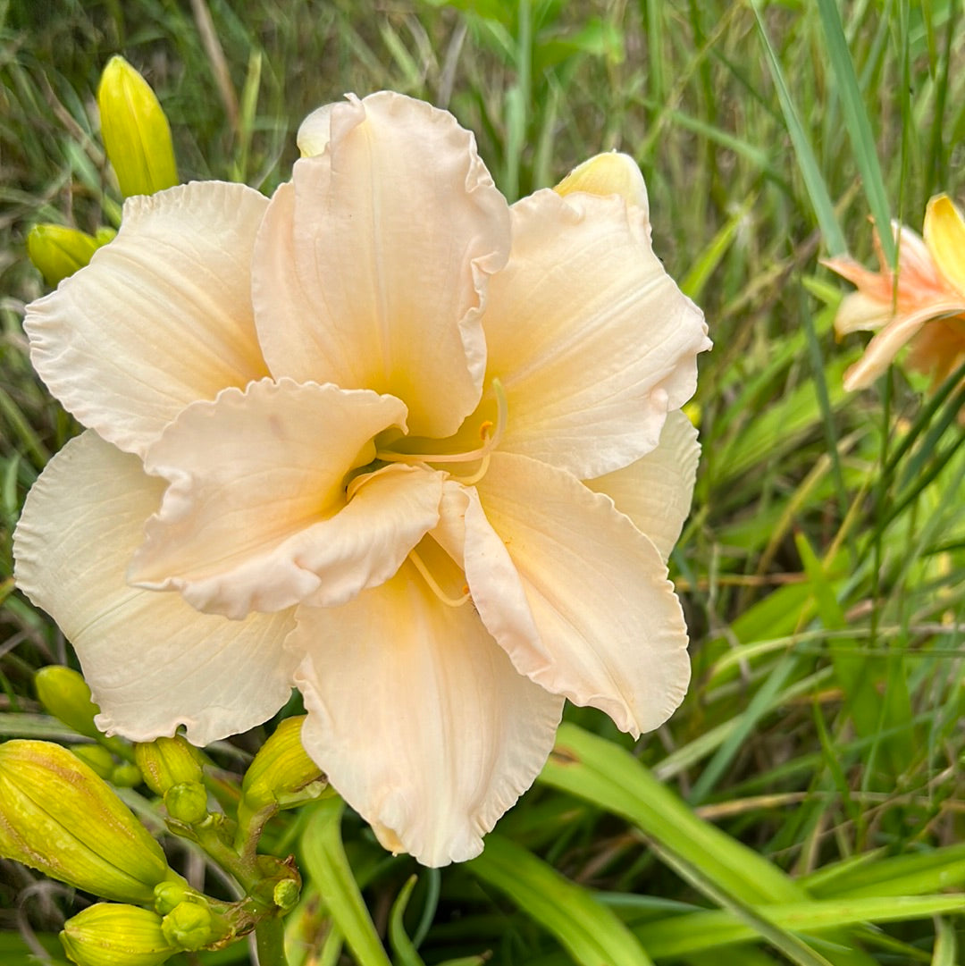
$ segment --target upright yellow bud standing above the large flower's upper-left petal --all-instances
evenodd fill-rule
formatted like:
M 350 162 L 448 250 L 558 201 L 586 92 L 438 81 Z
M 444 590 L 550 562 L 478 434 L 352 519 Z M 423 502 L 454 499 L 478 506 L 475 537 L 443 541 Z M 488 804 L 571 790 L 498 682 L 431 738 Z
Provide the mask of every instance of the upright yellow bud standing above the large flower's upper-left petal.
M 104 68 L 98 107 L 104 150 L 125 197 L 178 184 L 164 111 L 150 84 L 123 57 L 112 57 Z

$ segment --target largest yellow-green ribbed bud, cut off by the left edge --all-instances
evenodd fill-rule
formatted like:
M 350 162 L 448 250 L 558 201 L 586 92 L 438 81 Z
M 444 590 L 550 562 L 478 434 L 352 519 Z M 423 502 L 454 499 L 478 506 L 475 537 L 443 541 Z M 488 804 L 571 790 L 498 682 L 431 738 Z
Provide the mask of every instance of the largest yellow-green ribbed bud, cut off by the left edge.
M 59 745 L 0 745 L 0 856 L 104 898 L 151 902 L 179 878 L 93 769 Z

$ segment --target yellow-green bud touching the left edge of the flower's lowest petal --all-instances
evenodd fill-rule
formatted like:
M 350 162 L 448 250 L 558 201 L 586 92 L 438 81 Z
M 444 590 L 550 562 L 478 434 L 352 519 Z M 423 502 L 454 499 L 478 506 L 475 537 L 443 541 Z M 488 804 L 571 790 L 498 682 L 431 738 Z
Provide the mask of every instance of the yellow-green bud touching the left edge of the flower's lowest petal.
M 241 781 L 241 801 L 251 810 L 279 808 L 317 798 L 326 785 L 322 769 L 301 745 L 301 724 L 287 718 L 262 745 Z

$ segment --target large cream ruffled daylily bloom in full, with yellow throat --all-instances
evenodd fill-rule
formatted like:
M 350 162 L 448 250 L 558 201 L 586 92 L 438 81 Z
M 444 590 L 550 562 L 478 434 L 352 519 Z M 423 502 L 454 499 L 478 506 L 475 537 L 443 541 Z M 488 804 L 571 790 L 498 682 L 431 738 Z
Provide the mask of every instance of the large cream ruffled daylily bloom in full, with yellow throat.
M 629 158 L 510 208 L 419 101 L 349 97 L 299 143 L 270 201 L 129 200 L 29 306 L 88 430 L 27 499 L 16 579 L 102 728 L 206 744 L 294 684 L 334 787 L 444 865 L 533 781 L 564 697 L 639 734 L 684 695 L 666 560 L 706 327 Z

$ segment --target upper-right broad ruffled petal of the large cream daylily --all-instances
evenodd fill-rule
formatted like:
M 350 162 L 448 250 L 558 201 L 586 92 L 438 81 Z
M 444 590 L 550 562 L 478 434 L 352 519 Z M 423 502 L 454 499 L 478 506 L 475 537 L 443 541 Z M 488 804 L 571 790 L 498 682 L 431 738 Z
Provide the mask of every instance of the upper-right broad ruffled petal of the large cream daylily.
M 508 401 L 500 449 L 582 479 L 625 467 L 693 395 L 703 316 L 621 198 L 538 191 L 513 206 L 513 233 L 484 319 L 487 379 Z

